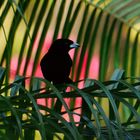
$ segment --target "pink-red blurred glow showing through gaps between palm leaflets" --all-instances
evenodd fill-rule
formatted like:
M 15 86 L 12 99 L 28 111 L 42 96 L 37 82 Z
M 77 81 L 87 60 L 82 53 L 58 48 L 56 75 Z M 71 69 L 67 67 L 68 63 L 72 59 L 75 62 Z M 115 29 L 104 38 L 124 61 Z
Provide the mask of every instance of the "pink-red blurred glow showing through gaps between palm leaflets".
M 59 35 L 59 38 L 60 38 L 60 35 Z M 74 37 L 72 37 L 72 38 L 74 38 Z M 38 48 L 38 44 L 39 44 L 39 39 L 40 39 L 40 34 L 38 34 L 38 36 L 36 37 L 36 40 L 34 42 L 32 55 L 36 54 L 36 51 L 37 51 L 37 48 Z M 48 49 L 49 49 L 49 47 L 51 45 L 51 42 L 52 42 L 52 38 L 51 38 L 51 35 L 49 34 L 49 35 L 46 36 L 46 39 L 45 39 L 45 41 L 43 43 L 43 48 L 42 48 L 42 51 L 41 51 L 40 59 L 48 51 Z M 87 63 L 88 53 L 87 52 L 85 52 L 85 53 L 86 54 L 85 54 L 84 61 L 83 61 L 83 66 L 82 66 L 82 71 L 81 71 L 81 74 L 80 74 L 80 79 L 84 79 L 84 74 L 85 74 L 85 71 L 86 71 L 86 63 Z M 71 50 L 70 51 L 71 58 L 73 58 L 73 55 L 74 55 L 74 50 Z M 22 64 L 21 64 L 20 72 L 19 72 L 20 75 L 22 75 L 22 73 L 23 73 L 23 69 L 24 69 L 24 66 L 25 66 L 25 59 L 26 58 L 23 58 L 23 60 L 22 60 Z M 33 62 L 34 62 L 34 59 L 32 58 L 30 60 L 30 62 L 29 62 L 26 76 L 30 76 L 31 75 L 32 68 L 33 68 Z M 40 62 L 40 60 L 39 60 L 39 62 Z M 16 74 L 17 65 L 18 65 L 18 57 L 15 55 L 15 56 L 12 57 L 12 60 L 11 60 L 11 73 L 10 73 L 10 75 L 13 78 L 15 77 L 15 74 Z M 78 63 L 76 65 L 78 65 Z M 92 58 L 92 61 L 91 61 L 88 77 L 89 78 L 97 79 L 98 71 L 99 71 L 99 56 L 98 55 L 94 55 L 93 58 Z M 38 63 L 38 66 L 37 66 L 37 69 L 36 69 L 36 72 L 35 72 L 35 76 L 43 78 L 43 75 L 42 75 L 39 63 Z M 81 85 L 81 87 L 82 87 L 82 85 Z M 66 101 L 67 105 L 69 105 L 70 99 L 65 99 L 65 101 Z M 46 99 L 38 99 L 37 102 L 38 102 L 38 104 L 42 104 L 42 105 L 46 105 L 46 102 L 47 102 L 47 106 L 51 105 L 51 99 L 47 99 L 47 100 Z M 81 106 L 81 102 L 82 102 L 81 98 L 77 98 L 76 99 L 75 107 L 80 107 Z M 65 109 L 62 108 L 62 110 L 64 111 Z M 80 109 L 77 109 L 75 112 L 76 113 L 80 113 L 80 111 L 81 111 Z M 64 117 L 66 119 L 68 119 L 67 115 L 64 115 Z M 78 121 L 79 120 L 79 116 L 74 115 L 74 119 L 76 121 Z

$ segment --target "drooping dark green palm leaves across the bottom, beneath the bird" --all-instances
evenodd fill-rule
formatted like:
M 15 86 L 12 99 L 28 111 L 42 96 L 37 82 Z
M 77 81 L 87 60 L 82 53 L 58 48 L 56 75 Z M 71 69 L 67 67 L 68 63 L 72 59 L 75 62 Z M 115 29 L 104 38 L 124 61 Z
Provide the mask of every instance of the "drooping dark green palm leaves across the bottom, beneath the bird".
M 5 69 L 0 68 L 1 82 Z M 15 81 L 0 87 L 0 132 L 5 139 L 34 139 L 39 131 L 42 139 L 53 139 L 62 133 L 66 139 L 139 139 L 139 100 L 140 82 L 130 84 L 127 79 L 121 80 L 123 71 L 116 70 L 111 81 L 101 83 L 87 79 L 81 81 L 84 88 L 78 89 L 77 83 L 63 85 L 73 90 L 64 92 L 42 78 L 33 78 L 31 89 L 25 84 L 29 78 L 17 76 Z M 118 79 L 119 78 L 119 79 Z M 118 79 L 118 80 L 117 80 Z M 41 86 L 42 84 L 45 84 Z M 8 93 L 5 96 L 5 93 Z M 81 98 L 84 105 L 70 108 L 64 100 Z M 100 104 L 96 97 L 105 100 Z M 64 110 L 37 104 L 38 99 L 60 100 Z M 134 99 L 130 103 L 128 99 Z M 87 107 L 84 109 L 84 107 Z M 108 110 L 111 110 L 107 113 Z M 127 108 L 123 116 L 122 108 Z M 80 109 L 82 113 L 77 112 Z M 90 116 L 88 115 L 90 113 Z M 64 117 L 67 114 L 68 117 Z M 75 116 L 79 119 L 75 120 Z M 135 132 L 135 133 L 134 133 Z M 62 139 L 62 136 L 60 137 Z

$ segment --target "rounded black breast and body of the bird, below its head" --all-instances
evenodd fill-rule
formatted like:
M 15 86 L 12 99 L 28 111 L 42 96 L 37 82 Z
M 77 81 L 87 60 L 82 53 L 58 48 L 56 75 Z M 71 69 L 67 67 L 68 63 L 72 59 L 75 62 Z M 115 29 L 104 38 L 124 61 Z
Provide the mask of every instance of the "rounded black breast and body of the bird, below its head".
M 68 79 L 72 66 L 69 55 L 46 55 L 41 62 L 44 77 L 54 83 L 63 83 Z

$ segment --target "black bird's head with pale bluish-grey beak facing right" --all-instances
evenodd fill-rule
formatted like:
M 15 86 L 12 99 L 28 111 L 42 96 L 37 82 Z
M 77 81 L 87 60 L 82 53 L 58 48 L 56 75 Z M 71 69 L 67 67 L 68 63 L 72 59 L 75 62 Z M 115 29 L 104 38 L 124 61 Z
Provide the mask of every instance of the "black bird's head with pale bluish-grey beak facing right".
M 57 39 L 55 40 L 51 47 L 50 51 L 57 51 L 61 53 L 68 53 L 69 50 L 73 48 L 78 48 L 80 47 L 78 43 L 73 42 L 72 40 L 69 39 Z

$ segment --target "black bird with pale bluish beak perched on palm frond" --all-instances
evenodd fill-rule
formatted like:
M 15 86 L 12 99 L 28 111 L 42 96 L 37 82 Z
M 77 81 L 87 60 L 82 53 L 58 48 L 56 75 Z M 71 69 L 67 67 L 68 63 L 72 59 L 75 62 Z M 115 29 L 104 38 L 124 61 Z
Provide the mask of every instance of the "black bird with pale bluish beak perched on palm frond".
M 69 78 L 72 60 L 69 50 L 78 48 L 79 44 L 69 39 L 57 39 L 41 60 L 41 70 L 45 79 L 56 84 L 71 83 Z

